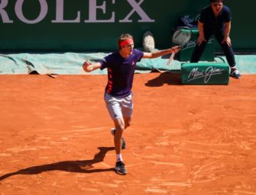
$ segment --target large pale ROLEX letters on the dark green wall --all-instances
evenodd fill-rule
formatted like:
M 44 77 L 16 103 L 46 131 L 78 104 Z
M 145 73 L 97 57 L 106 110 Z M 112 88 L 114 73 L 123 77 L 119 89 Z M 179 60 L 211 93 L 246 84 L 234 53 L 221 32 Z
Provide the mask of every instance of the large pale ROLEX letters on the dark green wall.
M 35 2 L 39 2 L 40 6 L 40 13 L 35 19 L 26 18 L 28 16 L 28 13 L 24 13 L 24 1 L 25 0 L 15 0 L 15 14 L 19 21 L 24 22 L 25 24 L 37 24 L 46 18 L 48 13 L 48 1 L 53 0 L 34 0 Z M 80 23 L 81 17 L 82 17 L 82 11 L 74 11 L 74 16 L 72 18 L 65 18 L 65 6 L 64 6 L 64 0 L 55 0 L 56 1 L 56 13 L 55 18 L 53 18 L 50 22 L 51 23 Z M 138 20 L 138 22 L 154 22 L 153 19 L 149 18 L 146 12 L 141 8 L 141 4 L 144 2 L 144 0 L 126 0 L 129 5 L 131 5 L 131 11 L 126 15 L 126 17 L 122 20 L 119 20 L 120 23 L 129 23 L 133 22 L 131 20 L 131 15 L 137 13 L 138 16 L 141 18 Z M 138 2 L 137 2 L 138 1 Z M 29 1 L 28 1 L 29 2 Z M 111 4 L 115 5 L 115 0 L 88 0 L 84 1 L 88 3 L 88 19 L 86 19 L 85 23 L 115 23 L 115 12 L 107 12 L 107 5 Z M 101 5 L 97 2 L 102 2 Z M 71 4 L 71 2 L 69 2 Z M 73 3 L 73 2 L 72 2 Z M 9 13 L 7 9 L 8 0 L 0 0 L 0 17 L 2 18 L 3 23 L 14 23 L 9 18 Z M 50 4 L 53 5 L 53 4 Z M 67 5 L 66 5 L 67 6 Z M 32 7 L 31 7 L 32 8 Z M 99 14 L 99 12 L 102 12 L 102 14 Z M 117 10 L 118 11 L 118 10 Z M 69 10 L 70 13 L 70 10 Z M 108 13 L 108 14 L 106 14 Z M 107 17 L 104 17 L 105 15 L 108 15 Z M 99 17 L 100 15 L 100 17 Z

